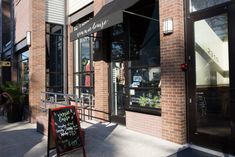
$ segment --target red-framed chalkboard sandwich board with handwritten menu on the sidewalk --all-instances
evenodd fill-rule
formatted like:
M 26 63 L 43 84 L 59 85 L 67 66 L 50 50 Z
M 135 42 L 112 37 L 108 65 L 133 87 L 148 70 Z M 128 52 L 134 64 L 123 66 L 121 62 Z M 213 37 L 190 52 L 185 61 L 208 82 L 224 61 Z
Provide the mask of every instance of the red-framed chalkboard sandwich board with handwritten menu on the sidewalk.
M 82 149 L 86 157 L 79 116 L 75 106 L 65 106 L 49 110 L 48 141 L 52 133 L 57 155 L 64 155 L 73 150 Z M 48 142 L 48 156 L 51 149 Z

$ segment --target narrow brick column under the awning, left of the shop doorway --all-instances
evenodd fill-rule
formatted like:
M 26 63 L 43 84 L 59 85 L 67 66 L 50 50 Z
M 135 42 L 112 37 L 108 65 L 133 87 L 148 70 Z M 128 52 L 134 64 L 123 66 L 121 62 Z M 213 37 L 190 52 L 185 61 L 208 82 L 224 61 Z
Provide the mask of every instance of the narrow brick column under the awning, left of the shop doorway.
M 94 0 L 95 14 L 102 8 L 104 1 Z M 100 35 L 99 35 L 100 36 Z M 103 39 L 103 42 L 104 39 Z M 105 44 L 103 43 L 105 46 Z M 109 119 L 109 92 L 108 92 L 108 63 L 105 61 L 106 50 L 102 49 L 94 56 L 94 74 L 95 74 L 95 117 L 99 121 L 107 121 Z

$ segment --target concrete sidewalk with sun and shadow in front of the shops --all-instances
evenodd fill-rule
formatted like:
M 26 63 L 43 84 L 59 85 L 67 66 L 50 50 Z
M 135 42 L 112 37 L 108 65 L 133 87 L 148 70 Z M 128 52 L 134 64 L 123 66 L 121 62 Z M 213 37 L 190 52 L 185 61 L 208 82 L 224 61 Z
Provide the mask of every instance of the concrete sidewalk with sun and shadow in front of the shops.
M 87 157 L 167 157 L 181 145 L 137 133 L 113 123 L 81 123 Z M 27 122 L 9 124 L 0 117 L 1 157 L 45 157 L 47 137 Z M 51 156 L 55 154 L 52 152 Z M 65 155 L 80 157 L 81 151 Z

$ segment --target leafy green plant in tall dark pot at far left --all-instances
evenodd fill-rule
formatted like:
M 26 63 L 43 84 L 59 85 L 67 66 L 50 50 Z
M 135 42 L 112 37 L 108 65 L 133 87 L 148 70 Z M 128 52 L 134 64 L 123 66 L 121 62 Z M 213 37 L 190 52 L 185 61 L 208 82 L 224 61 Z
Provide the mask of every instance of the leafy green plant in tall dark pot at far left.
M 7 121 L 9 123 L 22 120 L 23 106 L 25 96 L 21 92 L 21 85 L 14 82 L 6 82 L 1 86 L 2 94 L 4 98 L 4 110 L 7 113 Z

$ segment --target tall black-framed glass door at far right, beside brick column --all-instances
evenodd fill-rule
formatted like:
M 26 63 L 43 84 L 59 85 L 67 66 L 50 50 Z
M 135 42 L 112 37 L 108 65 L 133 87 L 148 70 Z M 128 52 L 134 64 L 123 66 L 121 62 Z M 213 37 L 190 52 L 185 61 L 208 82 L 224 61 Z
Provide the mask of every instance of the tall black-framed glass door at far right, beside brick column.
M 188 21 L 189 142 L 235 154 L 235 5 Z

